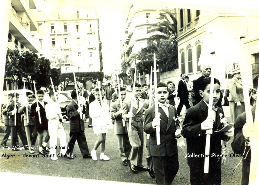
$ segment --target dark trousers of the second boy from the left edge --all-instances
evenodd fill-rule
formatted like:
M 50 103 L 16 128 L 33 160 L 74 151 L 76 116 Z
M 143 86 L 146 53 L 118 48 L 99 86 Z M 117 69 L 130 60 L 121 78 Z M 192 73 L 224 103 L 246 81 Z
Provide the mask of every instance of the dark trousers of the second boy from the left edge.
M 11 137 L 12 137 L 12 147 L 16 146 L 16 140 L 17 140 L 17 133 L 19 134 L 19 137 L 22 141 L 23 146 L 28 144 L 26 133 L 22 125 L 16 125 L 16 126 L 10 126 L 11 127 Z

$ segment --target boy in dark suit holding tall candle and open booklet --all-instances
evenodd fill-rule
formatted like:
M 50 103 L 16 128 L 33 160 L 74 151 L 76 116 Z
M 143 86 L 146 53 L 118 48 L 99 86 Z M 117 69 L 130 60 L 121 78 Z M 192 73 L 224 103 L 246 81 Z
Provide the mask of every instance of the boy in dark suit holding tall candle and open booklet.
M 221 157 L 216 155 L 221 155 L 220 140 L 228 141 L 233 136 L 233 127 L 225 133 L 214 132 L 222 128 L 223 111 L 215 105 L 220 97 L 220 83 L 219 80 L 214 79 L 213 110 L 215 116 L 213 118 L 208 117 L 210 85 L 210 77 L 202 80 L 200 96 L 203 99 L 187 110 L 181 132 L 187 143 L 187 161 L 190 167 L 191 185 L 221 184 Z M 206 130 L 210 129 L 213 133 L 210 137 L 209 173 L 206 178 L 203 178 Z

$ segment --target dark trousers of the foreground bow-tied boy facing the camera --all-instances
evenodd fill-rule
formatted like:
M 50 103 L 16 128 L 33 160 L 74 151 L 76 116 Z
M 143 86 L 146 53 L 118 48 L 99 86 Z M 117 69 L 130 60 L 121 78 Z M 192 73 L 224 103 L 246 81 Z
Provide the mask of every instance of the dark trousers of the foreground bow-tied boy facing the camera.
M 179 169 L 178 154 L 171 156 L 152 156 L 157 184 L 170 185 Z

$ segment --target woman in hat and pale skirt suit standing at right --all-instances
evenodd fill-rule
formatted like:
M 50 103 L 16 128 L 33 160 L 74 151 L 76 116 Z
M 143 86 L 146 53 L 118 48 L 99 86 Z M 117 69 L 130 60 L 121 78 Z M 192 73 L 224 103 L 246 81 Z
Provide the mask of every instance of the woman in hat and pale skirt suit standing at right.
M 230 92 L 228 101 L 230 106 L 231 121 L 232 123 L 235 123 L 237 116 L 245 112 L 245 104 L 240 69 L 234 69 L 232 74 L 233 77 L 228 83 Z

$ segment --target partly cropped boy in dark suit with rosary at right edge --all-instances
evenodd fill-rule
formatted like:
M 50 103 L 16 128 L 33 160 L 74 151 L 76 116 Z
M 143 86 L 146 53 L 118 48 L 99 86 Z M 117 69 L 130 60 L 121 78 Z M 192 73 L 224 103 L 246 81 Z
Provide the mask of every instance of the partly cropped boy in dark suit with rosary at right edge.
M 257 94 L 258 87 L 258 75 L 253 80 L 254 88 L 252 89 L 253 94 Z M 249 111 L 249 110 L 248 110 Z M 252 116 L 254 120 L 255 107 L 252 107 Z M 243 112 L 237 117 L 234 130 L 234 139 L 231 143 L 232 150 L 236 154 L 243 155 L 242 160 L 242 185 L 248 185 L 249 174 L 250 174 L 250 162 L 251 162 L 251 151 L 249 137 L 253 137 L 257 132 L 254 131 L 253 127 L 246 124 L 246 112 Z M 258 159 L 257 159 L 258 160 Z

